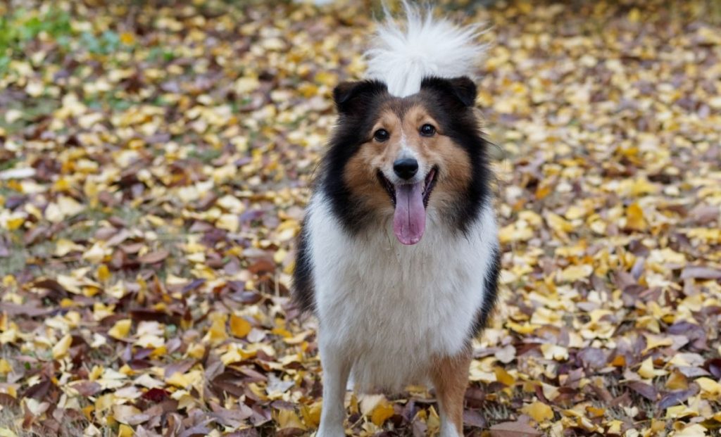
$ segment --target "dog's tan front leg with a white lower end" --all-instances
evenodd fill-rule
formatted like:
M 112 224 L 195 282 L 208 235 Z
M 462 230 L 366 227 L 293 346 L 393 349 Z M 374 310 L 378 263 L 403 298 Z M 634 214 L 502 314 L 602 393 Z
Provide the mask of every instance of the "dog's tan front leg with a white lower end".
M 456 356 L 437 358 L 433 363 L 431 379 L 441 410 L 441 437 L 463 436 L 463 401 L 471 358 L 471 348 L 465 348 Z

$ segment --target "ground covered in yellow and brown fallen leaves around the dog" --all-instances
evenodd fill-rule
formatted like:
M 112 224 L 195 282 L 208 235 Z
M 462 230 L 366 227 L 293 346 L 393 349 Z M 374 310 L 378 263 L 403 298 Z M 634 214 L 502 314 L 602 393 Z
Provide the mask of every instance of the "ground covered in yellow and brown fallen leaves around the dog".
M 372 14 L 145 3 L 0 5 L 0 436 L 312 433 L 293 238 Z M 442 9 L 492 43 L 503 304 L 466 431 L 718 435 L 720 4 Z M 436 411 L 349 396 L 348 428 Z

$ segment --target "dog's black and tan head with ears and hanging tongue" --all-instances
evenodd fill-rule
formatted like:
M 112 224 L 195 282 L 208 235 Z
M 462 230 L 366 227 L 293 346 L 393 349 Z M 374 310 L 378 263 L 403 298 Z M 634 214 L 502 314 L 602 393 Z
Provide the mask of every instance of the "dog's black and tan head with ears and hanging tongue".
M 458 216 L 459 202 L 472 200 L 474 177 L 482 177 L 475 96 L 465 77 L 426 79 L 419 93 L 403 98 L 380 82 L 340 84 L 328 169 L 337 186 L 327 188 L 353 209 L 354 220 L 392 216 L 400 242 L 419 242 L 427 211 Z

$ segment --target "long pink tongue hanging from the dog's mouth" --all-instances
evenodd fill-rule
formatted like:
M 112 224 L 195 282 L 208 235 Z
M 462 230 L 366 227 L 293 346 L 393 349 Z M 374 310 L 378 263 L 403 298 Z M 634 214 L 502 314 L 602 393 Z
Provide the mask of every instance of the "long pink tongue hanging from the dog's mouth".
M 393 231 L 403 244 L 420 242 L 425 230 L 423 181 L 417 184 L 396 185 L 396 212 Z

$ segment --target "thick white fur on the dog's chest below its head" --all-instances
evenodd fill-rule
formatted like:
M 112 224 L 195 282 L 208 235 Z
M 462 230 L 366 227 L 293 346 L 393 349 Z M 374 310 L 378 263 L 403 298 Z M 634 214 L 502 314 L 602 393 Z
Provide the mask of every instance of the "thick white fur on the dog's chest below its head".
M 404 246 L 390 223 L 351 237 L 322 195 L 311 201 L 319 335 L 353 362 L 357 389 L 423 383 L 430 360 L 459 353 L 471 334 L 497 247 L 492 210 L 465 236 L 451 234 L 435 211 L 427 220 L 423 239 Z

